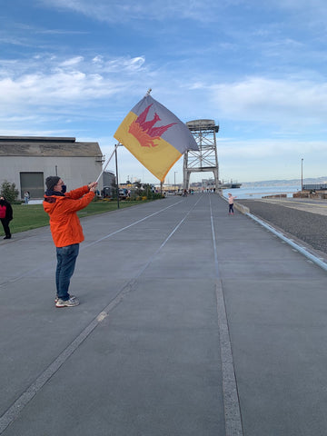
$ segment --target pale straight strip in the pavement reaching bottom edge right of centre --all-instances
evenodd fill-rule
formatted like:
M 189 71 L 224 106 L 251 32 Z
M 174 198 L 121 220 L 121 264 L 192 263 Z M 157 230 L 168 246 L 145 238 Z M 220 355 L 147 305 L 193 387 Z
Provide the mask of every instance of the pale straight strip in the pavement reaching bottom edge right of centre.
M 228 327 L 223 282 L 220 278 L 217 244 L 214 233 L 213 208 L 210 200 L 211 226 L 213 233 L 213 256 L 216 273 L 215 293 L 219 328 L 220 351 L 223 374 L 223 407 L 225 417 L 225 435 L 243 436 L 243 423 L 237 381 L 233 364 L 232 343 Z

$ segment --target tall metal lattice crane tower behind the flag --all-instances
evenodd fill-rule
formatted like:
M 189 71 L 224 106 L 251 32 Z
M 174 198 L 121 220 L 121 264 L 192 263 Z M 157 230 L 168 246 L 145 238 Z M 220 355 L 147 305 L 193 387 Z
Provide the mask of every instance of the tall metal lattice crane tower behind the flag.
M 190 129 L 199 150 L 188 150 L 183 157 L 183 189 L 190 187 L 191 173 L 211 171 L 214 176 L 216 191 L 219 184 L 219 165 L 217 158 L 217 145 L 215 134 L 219 125 L 214 120 L 194 120 L 186 123 Z

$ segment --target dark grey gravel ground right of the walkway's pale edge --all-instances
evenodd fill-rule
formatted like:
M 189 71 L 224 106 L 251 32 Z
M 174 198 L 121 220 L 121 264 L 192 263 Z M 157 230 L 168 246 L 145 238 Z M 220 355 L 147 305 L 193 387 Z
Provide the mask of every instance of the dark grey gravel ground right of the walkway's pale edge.
M 247 206 L 253 215 L 290 233 L 314 250 L 327 253 L 327 216 L 255 200 L 238 200 L 237 203 Z

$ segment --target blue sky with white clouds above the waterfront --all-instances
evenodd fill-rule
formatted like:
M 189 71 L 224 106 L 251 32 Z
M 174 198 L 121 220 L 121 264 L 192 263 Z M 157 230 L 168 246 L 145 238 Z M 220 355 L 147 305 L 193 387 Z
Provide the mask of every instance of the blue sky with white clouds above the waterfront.
M 219 124 L 221 180 L 327 178 L 326 42 L 325 0 L 3 1 L 0 135 L 73 136 L 108 158 L 151 88 L 183 123 Z M 122 183 L 158 183 L 124 147 L 118 164 Z M 183 157 L 165 183 L 183 183 Z

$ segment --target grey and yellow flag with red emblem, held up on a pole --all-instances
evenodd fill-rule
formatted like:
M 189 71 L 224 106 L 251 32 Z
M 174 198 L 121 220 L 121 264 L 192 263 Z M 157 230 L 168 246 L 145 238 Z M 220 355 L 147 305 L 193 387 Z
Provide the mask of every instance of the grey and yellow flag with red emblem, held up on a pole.
M 190 130 L 150 94 L 134 105 L 114 137 L 161 182 L 186 150 L 198 150 Z

